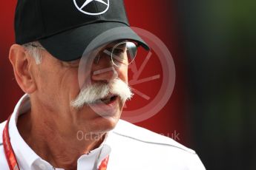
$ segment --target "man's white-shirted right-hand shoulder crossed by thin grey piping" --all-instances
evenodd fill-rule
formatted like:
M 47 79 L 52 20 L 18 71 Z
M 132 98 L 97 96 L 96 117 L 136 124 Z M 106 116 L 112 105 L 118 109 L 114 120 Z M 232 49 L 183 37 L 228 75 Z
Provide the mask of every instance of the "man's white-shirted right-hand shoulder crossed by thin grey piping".
M 107 139 L 113 167 L 122 167 L 130 160 L 129 169 L 205 169 L 193 150 L 125 120 L 119 120 Z

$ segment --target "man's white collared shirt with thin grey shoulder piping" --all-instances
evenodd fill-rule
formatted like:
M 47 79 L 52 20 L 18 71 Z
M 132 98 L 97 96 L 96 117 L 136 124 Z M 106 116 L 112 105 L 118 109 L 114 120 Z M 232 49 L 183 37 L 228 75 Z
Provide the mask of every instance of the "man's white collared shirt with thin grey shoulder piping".
M 19 115 L 30 108 L 28 95 L 24 95 L 17 103 L 10 118 L 10 142 L 21 170 L 50 170 L 50 163 L 42 160 L 27 143 L 24 142 L 16 123 Z M 2 146 L 2 132 L 5 123 L 0 124 L 0 168 L 9 169 Z M 100 153 L 101 151 L 101 153 Z M 100 153 L 100 154 L 99 154 Z M 78 170 L 94 170 L 96 157 L 99 161 L 110 154 L 108 170 L 204 170 L 205 167 L 197 154 L 177 143 L 171 138 L 135 126 L 124 120 L 119 120 L 114 130 L 108 132 L 108 137 L 99 148 L 85 154 L 77 160 Z

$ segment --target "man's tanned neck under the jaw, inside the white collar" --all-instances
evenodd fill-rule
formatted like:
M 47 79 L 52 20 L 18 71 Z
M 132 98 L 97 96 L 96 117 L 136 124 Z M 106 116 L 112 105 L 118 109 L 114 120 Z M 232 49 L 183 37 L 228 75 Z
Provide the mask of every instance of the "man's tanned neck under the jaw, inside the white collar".
M 56 168 L 76 169 L 79 157 L 98 147 L 105 138 L 102 135 L 94 137 L 99 140 L 79 140 L 79 129 L 66 124 L 69 129 L 64 134 L 54 120 L 44 115 L 27 112 L 19 117 L 17 127 L 30 148 Z

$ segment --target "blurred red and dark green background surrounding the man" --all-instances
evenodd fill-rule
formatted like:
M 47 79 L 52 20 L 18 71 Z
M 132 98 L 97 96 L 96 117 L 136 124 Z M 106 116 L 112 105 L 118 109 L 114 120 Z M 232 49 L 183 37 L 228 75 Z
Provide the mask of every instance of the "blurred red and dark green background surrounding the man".
M 131 26 L 157 35 L 176 67 L 168 103 L 136 124 L 168 137 L 176 134 L 178 142 L 199 154 L 206 169 L 256 169 L 256 1 L 125 4 Z M 0 122 L 23 94 L 8 61 L 15 5 L 10 0 L 0 7 Z M 157 67 L 151 63 L 148 68 Z

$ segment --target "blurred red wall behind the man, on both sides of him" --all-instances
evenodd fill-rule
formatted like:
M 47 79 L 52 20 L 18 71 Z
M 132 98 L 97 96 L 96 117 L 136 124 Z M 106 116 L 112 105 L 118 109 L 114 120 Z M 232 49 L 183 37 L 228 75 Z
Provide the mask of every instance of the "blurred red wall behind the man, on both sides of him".
M 157 35 L 170 50 L 176 66 L 176 84 L 165 107 L 154 117 L 137 123 L 154 132 L 168 135 L 179 133 L 179 142 L 189 146 L 189 121 L 183 103 L 186 101 L 185 78 L 183 75 L 183 58 L 179 46 L 179 29 L 175 10 L 170 0 L 125 0 L 130 24 Z M 8 61 L 8 51 L 14 43 L 13 18 L 15 0 L 4 1 L 0 7 L 0 122 L 12 112 L 23 92 L 17 86 L 12 67 Z M 154 69 L 154 64 L 149 65 Z M 157 88 L 157 87 L 156 87 Z M 137 103 L 140 106 L 140 103 Z

